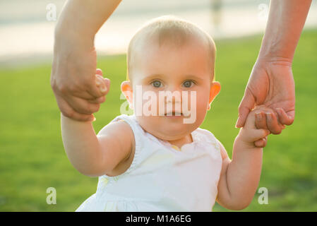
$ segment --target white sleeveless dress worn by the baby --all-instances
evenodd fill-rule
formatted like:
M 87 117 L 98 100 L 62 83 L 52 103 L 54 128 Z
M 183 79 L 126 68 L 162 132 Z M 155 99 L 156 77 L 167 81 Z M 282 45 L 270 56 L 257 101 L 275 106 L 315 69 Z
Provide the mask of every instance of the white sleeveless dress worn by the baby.
M 191 133 L 181 147 L 142 129 L 135 115 L 121 114 L 133 130 L 136 151 L 119 176 L 99 177 L 97 191 L 76 211 L 212 211 L 222 169 L 220 146 L 208 130 Z

